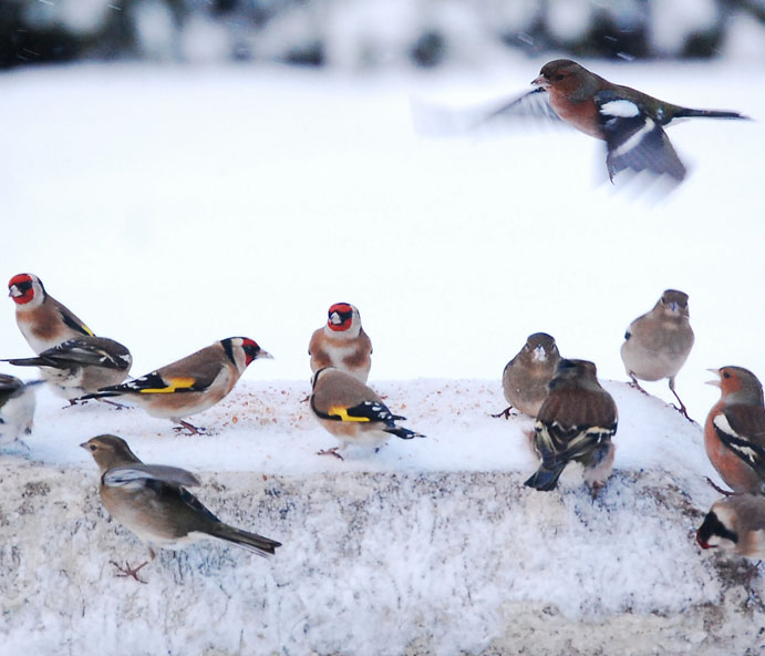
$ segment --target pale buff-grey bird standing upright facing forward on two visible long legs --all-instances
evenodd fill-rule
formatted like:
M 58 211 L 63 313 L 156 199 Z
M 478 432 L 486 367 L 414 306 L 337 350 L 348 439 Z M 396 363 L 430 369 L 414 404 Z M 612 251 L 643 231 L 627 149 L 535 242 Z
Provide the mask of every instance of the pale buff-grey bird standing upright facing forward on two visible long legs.
M 621 359 L 632 383 L 644 393 L 640 380 L 669 378 L 670 390 L 686 419 L 685 404 L 674 389 L 674 379 L 693 347 L 693 329 L 688 312 L 688 294 L 666 289 L 650 312 L 638 317 L 624 334 Z

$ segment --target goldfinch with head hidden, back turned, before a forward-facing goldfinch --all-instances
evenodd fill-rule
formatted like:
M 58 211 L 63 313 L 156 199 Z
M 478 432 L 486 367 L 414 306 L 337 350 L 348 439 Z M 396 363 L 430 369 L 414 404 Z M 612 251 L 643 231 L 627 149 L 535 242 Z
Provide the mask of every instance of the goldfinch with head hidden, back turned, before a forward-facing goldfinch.
M 333 367 L 313 375 L 310 407 L 319 423 L 342 442 L 340 447 L 320 451 L 322 455 L 342 460 L 338 449 L 348 444 L 380 448 L 390 435 L 402 440 L 425 437 L 396 426 L 396 421 L 406 418 L 393 414 L 363 382 Z

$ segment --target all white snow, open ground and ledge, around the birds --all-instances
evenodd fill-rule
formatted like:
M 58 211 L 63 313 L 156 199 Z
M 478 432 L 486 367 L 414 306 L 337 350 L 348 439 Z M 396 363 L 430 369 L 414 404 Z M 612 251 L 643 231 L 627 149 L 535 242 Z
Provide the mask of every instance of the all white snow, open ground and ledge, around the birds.
M 199 437 L 138 409 L 62 409 L 39 390 L 28 449 L 0 458 L 0 653 L 762 647 L 762 577 L 747 598 L 741 561 L 693 543 L 716 498 L 704 476 L 719 481 L 700 427 L 666 406 L 665 382 L 647 383 L 658 398 L 621 382 L 619 357 L 630 321 L 679 288 L 696 334 L 678 377 L 691 416 L 717 399 L 706 368 L 765 377 L 762 126 L 670 129 L 692 171 L 660 202 L 593 185 L 600 144 L 573 132 L 414 132 L 412 95 L 511 96 L 547 59 L 433 76 L 0 76 L 6 277 L 39 275 L 131 348 L 135 376 L 234 335 L 276 357 L 193 418 L 210 430 Z M 765 115 L 752 63 L 583 63 L 674 102 Z M 426 439 L 316 455 L 335 442 L 301 402 L 307 346 L 337 301 L 361 310 L 370 385 Z M 22 357 L 6 303 L 0 355 Z M 530 419 L 488 417 L 506 406 L 505 363 L 540 330 L 593 360 L 619 408 L 614 475 L 596 501 L 576 468 L 557 492 L 525 489 Z M 77 448 L 102 432 L 196 472 L 213 511 L 285 546 L 268 562 L 193 546 L 164 553 L 146 585 L 114 578 L 110 560 L 144 551 L 108 523 Z

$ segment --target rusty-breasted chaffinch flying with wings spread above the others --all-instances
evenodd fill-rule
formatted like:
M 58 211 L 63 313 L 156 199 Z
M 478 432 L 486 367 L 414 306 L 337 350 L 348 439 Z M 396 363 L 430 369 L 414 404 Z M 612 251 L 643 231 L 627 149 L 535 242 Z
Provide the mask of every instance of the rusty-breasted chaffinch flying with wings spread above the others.
M 664 126 L 678 119 L 748 119 L 738 112 L 692 110 L 603 80 L 585 66 L 557 59 L 546 63 L 531 84 L 537 89 L 489 116 L 536 114 L 555 116 L 585 134 L 606 142 L 606 166 L 611 180 L 628 168 L 685 177 L 685 166 L 674 152 Z M 545 94 L 545 98 L 540 98 Z

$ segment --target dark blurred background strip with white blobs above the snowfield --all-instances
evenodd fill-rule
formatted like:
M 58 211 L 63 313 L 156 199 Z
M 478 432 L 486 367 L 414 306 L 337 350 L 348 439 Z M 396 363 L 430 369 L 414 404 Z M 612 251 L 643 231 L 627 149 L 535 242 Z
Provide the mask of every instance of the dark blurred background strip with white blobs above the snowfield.
M 758 58 L 765 0 L 2 0 L 0 66 L 71 61 L 433 68 L 536 57 Z

